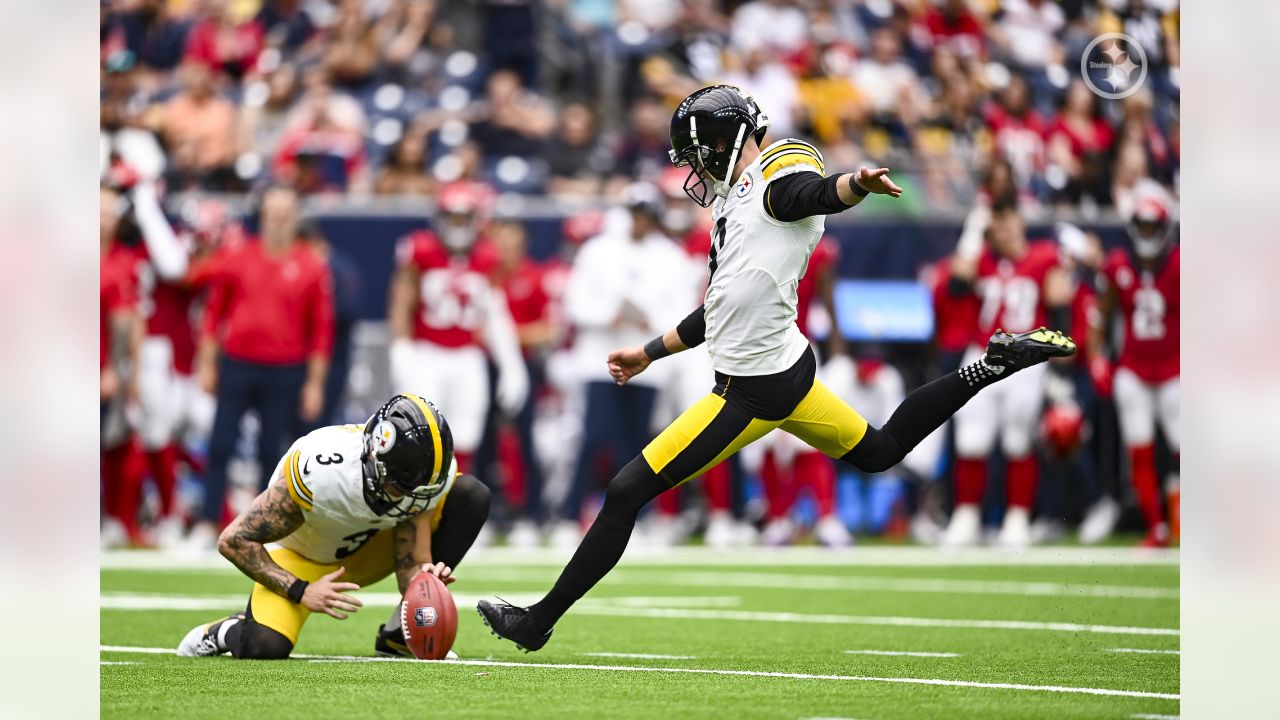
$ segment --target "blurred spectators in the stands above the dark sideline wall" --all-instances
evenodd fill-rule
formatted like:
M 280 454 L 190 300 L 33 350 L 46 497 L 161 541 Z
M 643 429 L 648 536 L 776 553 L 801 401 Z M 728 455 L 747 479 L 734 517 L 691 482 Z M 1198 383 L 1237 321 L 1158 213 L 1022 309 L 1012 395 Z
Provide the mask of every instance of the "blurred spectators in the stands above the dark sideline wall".
M 776 137 L 899 169 L 910 208 L 977 193 L 1087 211 L 1176 186 L 1176 0 L 104 0 L 102 154 L 170 191 L 617 199 L 666 167 L 675 104 L 749 88 Z M 1100 33 L 1147 79 L 1102 102 Z

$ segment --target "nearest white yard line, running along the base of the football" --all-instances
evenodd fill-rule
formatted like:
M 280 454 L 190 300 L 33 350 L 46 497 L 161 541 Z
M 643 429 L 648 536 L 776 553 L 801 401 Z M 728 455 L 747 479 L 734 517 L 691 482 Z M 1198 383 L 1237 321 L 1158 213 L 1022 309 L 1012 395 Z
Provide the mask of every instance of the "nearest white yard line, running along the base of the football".
M 159 647 L 100 646 L 101 652 L 145 652 L 172 653 L 172 650 Z M 419 662 L 399 657 L 361 657 L 353 655 L 294 655 L 300 660 L 344 660 L 349 662 Z M 1073 688 L 1062 685 L 1024 685 L 1018 683 L 978 683 L 972 680 L 942 680 L 936 678 L 874 678 L 864 675 L 814 675 L 809 673 L 771 673 L 763 670 L 719 670 L 712 667 L 643 667 L 635 665 L 584 665 L 577 662 L 504 662 L 498 660 L 440 660 L 447 665 L 470 665 L 476 667 L 540 667 L 547 670 L 600 670 L 612 673 L 682 673 L 692 675 L 730 675 L 741 678 L 786 678 L 794 680 L 842 680 L 855 683 L 901 683 L 913 685 L 943 685 L 951 688 L 982 688 L 1000 691 L 1027 691 L 1046 693 L 1093 694 L 1108 697 L 1144 697 L 1152 700 L 1181 700 L 1176 693 L 1153 693 L 1146 691 L 1121 691 L 1112 688 Z

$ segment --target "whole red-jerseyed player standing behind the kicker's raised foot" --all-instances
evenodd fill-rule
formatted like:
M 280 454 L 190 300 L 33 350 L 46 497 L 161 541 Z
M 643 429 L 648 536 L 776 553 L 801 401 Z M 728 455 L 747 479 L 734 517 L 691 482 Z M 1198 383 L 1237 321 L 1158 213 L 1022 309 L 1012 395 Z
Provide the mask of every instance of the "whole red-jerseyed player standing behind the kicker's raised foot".
M 997 328 L 1011 333 L 1033 331 L 1047 323 L 1051 309 L 1062 311 L 1071 300 L 1070 279 L 1059 265 L 1057 243 L 1028 242 L 1015 204 L 1005 201 L 992 208 L 986 236 L 988 246 L 977 263 L 957 254 L 951 268 L 954 281 L 970 282 L 982 301 L 964 363 L 982 355 L 982 343 Z M 956 413 L 956 507 L 943 536 L 946 544 L 974 544 L 979 539 L 987 457 L 997 437 L 1007 461 L 1009 488 L 998 542 L 1014 550 L 1030 543 L 1037 480 L 1032 439 L 1044 400 L 1047 369 L 1048 365 L 1037 365 L 984 388 Z

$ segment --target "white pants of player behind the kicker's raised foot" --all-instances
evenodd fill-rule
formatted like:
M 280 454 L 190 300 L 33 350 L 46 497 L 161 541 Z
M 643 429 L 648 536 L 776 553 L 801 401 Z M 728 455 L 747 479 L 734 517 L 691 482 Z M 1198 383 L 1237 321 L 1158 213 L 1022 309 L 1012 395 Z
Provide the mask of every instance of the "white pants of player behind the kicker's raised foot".
M 965 351 L 964 364 L 975 363 L 982 350 Z M 1032 452 L 1036 428 L 1044 402 L 1048 364 L 1041 363 L 989 384 L 955 415 L 956 455 L 979 459 L 991 455 L 1000 438 L 1005 457 L 1021 459 Z

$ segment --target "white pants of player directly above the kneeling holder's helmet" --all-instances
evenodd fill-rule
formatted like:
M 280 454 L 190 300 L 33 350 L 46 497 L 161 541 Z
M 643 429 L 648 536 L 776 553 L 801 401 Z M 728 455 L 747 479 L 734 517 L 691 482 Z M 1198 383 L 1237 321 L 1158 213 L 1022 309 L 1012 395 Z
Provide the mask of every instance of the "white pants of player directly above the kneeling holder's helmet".
M 392 363 L 392 382 L 397 392 L 421 395 L 440 410 L 454 450 L 480 447 L 489 413 L 489 364 L 483 350 L 415 341 L 407 361 Z

